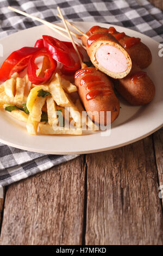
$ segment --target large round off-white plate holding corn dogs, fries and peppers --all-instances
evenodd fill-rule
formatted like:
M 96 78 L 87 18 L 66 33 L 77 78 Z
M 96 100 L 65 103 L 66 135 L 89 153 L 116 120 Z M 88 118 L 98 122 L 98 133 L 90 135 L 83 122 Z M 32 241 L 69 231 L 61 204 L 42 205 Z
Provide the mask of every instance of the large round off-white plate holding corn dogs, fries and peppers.
M 85 32 L 92 26 L 97 25 L 95 22 L 75 22 L 75 24 Z M 110 26 L 105 23 L 98 23 L 98 25 L 102 27 Z M 151 49 L 153 62 L 147 71 L 156 87 L 154 100 L 147 106 L 134 107 L 120 99 L 122 107 L 120 115 L 111 125 L 111 135 L 108 137 L 102 137 L 100 132 L 88 133 L 82 136 L 30 136 L 24 124 L 12 119 L 1 110 L 0 141 L 2 143 L 45 154 L 93 153 L 122 147 L 131 142 L 138 141 L 158 130 L 163 125 L 163 58 L 158 56 L 159 43 L 131 29 L 119 26 L 114 27 L 119 32 L 125 32 L 130 36 L 141 38 L 142 42 Z M 23 46 L 33 46 L 35 41 L 41 38 L 43 34 L 65 40 L 64 37 L 43 25 L 17 32 L 0 40 L 4 50 L 4 57 L 0 57 L 1 63 L 11 52 Z

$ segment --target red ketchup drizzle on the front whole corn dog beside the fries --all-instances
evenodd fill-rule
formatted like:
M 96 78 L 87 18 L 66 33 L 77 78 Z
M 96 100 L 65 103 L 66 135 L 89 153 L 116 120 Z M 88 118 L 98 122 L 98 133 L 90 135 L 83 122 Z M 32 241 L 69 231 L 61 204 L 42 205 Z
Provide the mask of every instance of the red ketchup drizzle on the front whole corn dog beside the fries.
M 108 86 L 106 86 L 105 82 L 101 80 L 100 76 L 88 74 L 80 80 L 80 86 L 84 86 L 86 84 L 86 90 L 90 91 L 86 94 L 86 100 L 95 99 L 97 95 L 104 96 L 111 94 L 110 89 L 102 90 L 102 88 L 106 88 Z

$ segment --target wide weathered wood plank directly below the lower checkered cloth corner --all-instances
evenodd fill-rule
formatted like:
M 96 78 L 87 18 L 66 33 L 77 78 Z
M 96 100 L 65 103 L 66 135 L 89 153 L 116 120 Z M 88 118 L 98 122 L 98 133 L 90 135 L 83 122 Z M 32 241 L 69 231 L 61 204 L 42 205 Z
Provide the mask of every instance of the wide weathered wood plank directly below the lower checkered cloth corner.
M 79 245 L 84 212 L 83 156 L 10 185 L 1 245 Z

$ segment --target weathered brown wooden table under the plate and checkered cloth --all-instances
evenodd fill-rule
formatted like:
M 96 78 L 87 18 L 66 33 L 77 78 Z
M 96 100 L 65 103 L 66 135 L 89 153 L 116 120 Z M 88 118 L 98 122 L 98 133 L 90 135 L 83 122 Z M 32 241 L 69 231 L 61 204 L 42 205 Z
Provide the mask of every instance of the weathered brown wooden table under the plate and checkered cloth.
M 163 129 L 6 187 L 0 244 L 162 245 L 161 185 Z

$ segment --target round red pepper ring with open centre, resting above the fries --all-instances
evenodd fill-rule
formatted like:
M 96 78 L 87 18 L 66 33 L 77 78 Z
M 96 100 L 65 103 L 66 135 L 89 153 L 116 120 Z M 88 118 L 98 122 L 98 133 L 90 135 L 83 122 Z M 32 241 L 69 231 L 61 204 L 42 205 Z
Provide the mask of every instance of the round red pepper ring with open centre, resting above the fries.
M 49 58 L 49 62 L 51 63 L 51 68 L 45 71 L 44 77 L 39 77 L 36 75 L 36 70 L 39 68 L 35 64 L 35 59 L 40 56 L 47 56 Z M 35 54 L 33 54 L 32 58 L 29 60 L 29 63 L 28 63 L 27 74 L 28 74 L 29 81 L 34 84 L 41 84 L 41 83 L 47 82 L 49 78 L 51 78 L 56 67 L 57 67 L 57 62 L 52 58 L 51 54 L 43 50 L 36 52 Z

